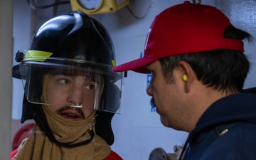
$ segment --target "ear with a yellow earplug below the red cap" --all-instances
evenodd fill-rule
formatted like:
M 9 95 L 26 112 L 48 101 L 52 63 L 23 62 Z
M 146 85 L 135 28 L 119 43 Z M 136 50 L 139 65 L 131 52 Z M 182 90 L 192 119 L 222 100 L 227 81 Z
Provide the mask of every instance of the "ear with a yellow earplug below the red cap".
M 180 71 L 181 80 L 184 82 L 185 92 L 191 90 L 194 80 L 196 80 L 196 73 L 187 62 L 181 60 L 178 62 L 178 70 Z

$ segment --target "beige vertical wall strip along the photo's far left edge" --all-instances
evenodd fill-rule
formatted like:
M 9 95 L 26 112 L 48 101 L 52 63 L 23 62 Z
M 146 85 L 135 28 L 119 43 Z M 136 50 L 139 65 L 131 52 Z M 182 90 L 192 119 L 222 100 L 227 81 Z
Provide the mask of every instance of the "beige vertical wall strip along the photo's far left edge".
M 0 0 L 0 159 L 10 159 L 13 1 Z

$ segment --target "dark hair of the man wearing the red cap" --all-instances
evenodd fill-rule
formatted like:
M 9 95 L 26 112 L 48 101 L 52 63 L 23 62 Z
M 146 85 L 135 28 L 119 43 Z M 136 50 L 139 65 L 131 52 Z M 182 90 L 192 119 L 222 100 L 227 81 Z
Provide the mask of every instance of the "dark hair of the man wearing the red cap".
M 233 26 L 226 28 L 223 37 L 251 40 L 249 33 Z M 191 65 L 203 85 L 223 91 L 241 91 L 250 68 L 246 55 L 237 50 L 217 49 L 169 56 L 159 59 L 167 82 L 171 82 L 173 70 L 181 60 Z

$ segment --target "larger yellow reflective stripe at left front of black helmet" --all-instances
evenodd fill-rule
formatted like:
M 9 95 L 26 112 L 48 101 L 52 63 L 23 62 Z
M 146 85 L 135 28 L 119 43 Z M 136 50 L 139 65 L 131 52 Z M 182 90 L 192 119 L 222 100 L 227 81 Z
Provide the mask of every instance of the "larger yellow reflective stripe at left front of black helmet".
M 53 55 L 53 53 L 41 50 L 28 50 L 26 52 L 26 58 L 28 60 L 35 60 L 40 62 L 45 61 L 48 57 L 50 57 L 50 55 Z

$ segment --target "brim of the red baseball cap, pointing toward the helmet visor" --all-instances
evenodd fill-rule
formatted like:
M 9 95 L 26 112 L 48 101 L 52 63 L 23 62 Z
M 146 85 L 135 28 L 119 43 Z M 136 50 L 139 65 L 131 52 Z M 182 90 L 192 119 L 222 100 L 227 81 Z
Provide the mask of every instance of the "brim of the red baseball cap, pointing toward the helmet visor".
M 154 58 L 139 58 L 137 60 L 132 60 L 128 63 L 124 63 L 122 65 L 117 65 L 112 70 L 114 72 L 123 72 L 127 70 L 133 70 L 137 73 L 150 73 L 149 70 L 146 69 L 146 65 L 153 63 L 156 61 Z

